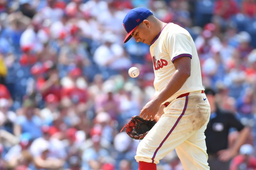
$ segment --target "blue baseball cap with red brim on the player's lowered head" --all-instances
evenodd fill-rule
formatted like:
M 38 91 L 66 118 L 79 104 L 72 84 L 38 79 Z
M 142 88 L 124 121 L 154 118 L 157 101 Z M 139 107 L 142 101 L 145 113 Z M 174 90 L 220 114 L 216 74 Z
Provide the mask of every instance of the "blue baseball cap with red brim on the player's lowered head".
M 123 26 L 128 33 L 124 39 L 124 43 L 132 38 L 132 32 L 139 26 L 139 24 L 147 19 L 153 13 L 145 7 L 133 8 L 128 11 L 123 20 Z

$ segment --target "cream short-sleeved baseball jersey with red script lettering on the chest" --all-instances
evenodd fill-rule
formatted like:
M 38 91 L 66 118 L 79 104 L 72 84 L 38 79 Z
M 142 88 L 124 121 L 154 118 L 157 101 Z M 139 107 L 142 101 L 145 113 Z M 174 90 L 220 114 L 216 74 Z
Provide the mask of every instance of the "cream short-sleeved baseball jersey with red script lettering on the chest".
M 191 58 L 191 74 L 178 92 L 166 101 L 172 101 L 180 94 L 204 90 L 201 69 L 195 43 L 188 31 L 176 24 L 168 23 L 150 46 L 157 95 L 172 77 L 176 70 L 173 61 L 179 57 Z M 164 103 L 166 102 L 164 101 Z

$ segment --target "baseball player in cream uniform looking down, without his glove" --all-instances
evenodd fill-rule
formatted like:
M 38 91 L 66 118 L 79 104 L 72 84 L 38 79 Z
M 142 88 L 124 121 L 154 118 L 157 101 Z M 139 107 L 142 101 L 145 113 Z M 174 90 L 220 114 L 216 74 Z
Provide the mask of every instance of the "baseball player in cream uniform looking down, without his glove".
M 156 170 L 160 159 L 173 149 L 185 170 L 209 169 L 204 130 L 210 105 L 192 37 L 145 7 L 128 11 L 123 25 L 128 33 L 124 43 L 133 36 L 150 46 L 155 72 L 155 97 L 142 108 L 140 117 L 157 122 L 138 145 L 139 170 Z

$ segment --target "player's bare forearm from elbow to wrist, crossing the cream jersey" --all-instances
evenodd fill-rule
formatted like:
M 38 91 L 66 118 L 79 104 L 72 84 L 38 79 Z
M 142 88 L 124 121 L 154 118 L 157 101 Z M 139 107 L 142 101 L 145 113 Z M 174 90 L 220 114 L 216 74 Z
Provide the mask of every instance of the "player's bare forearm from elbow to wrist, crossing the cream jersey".
M 176 70 L 164 89 L 156 96 L 155 100 L 159 103 L 163 103 L 165 100 L 169 99 L 182 87 L 189 76 L 190 74 L 186 71 Z

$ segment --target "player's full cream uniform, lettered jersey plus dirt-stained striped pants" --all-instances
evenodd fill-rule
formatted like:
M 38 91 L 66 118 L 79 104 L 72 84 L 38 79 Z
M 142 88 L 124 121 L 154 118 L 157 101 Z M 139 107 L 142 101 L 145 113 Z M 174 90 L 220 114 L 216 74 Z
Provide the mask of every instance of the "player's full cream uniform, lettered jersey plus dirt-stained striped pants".
M 175 149 L 184 170 L 209 170 L 204 130 L 211 109 L 206 95 L 202 93 L 200 63 L 192 37 L 184 28 L 169 23 L 152 42 L 150 53 L 154 63 L 156 94 L 172 77 L 175 59 L 190 57 L 191 74 L 180 90 L 166 100 L 170 104 L 164 108 L 164 114 L 140 141 L 136 161 L 158 164 Z M 188 92 L 189 95 L 176 99 Z

